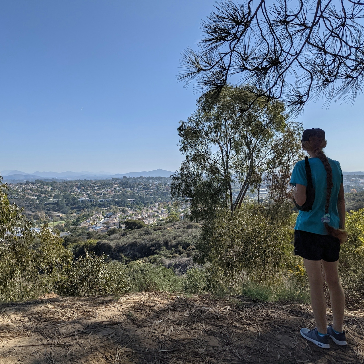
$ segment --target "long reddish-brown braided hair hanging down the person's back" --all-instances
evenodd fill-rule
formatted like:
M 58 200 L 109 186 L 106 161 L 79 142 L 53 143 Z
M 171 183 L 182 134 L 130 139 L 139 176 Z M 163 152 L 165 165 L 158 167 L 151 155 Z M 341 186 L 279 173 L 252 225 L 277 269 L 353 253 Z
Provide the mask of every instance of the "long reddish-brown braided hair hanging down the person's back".
M 318 138 L 317 136 L 310 136 L 309 141 L 302 142 L 302 146 L 309 150 L 310 152 L 313 152 L 316 154 L 317 158 L 320 159 L 320 161 L 323 163 L 326 171 L 326 181 L 327 181 L 327 190 L 326 190 L 326 203 L 325 203 L 325 215 L 329 213 L 329 206 L 330 206 L 330 199 L 331 199 L 331 191 L 333 187 L 332 183 L 332 168 L 329 163 L 329 160 L 325 156 L 325 153 L 323 152 L 323 148 L 327 145 L 327 142 L 325 139 Z M 348 239 L 348 233 L 344 230 L 335 229 L 334 227 L 330 226 L 328 223 L 324 223 L 325 228 L 327 232 L 335 236 L 335 238 L 338 238 L 340 240 L 340 243 L 344 243 Z

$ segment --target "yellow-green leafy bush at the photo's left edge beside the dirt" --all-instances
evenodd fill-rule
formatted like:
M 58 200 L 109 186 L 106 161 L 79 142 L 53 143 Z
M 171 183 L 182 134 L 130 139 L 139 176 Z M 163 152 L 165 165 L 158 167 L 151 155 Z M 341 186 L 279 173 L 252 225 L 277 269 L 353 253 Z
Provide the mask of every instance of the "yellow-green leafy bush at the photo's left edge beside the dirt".
M 34 233 L 23 210 L 9 203 L 6 191 L 0 177 L 0 300 L 28 300 L 54 288 L 72 255 L 46 225 Z

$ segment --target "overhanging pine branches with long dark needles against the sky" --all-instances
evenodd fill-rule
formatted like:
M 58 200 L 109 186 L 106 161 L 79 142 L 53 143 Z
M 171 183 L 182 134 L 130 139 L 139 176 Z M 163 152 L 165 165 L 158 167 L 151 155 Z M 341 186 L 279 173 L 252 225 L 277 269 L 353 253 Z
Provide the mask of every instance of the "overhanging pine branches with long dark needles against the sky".
M 353 101 L 364 81 L 363 0 L 226 0 L 202 23 L 180 78 L 214 102 L 234 76 L 257 99 L 300 112 L 323 98 Z M 231 81 L 230 81 L 231 82 Z

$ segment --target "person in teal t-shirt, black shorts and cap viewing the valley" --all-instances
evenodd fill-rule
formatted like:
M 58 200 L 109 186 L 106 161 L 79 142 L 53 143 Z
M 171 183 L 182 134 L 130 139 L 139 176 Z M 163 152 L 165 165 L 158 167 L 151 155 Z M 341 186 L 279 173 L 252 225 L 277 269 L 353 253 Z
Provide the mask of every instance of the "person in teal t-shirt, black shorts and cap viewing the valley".
M 338 273 L 340 243 L 347 240 L 343 173 L 340 164 L 323 152 L 327 142 L 322 129 L 306 129 L 302 149 L 310 158 L 298 162 L 290 184 L 295 186 L 298 208 L 294 227 L 294 255 L 303 258 L 310 286 L 316 328 L 301 329 L 301 335 L 321 348 L 329 348 L 329 338 L 346 345 L 343 331 L 345 295 Z M 311 182 L 312 180 L 312 182 Z M 321 271 L 321 267 L 323 273 Z M 324 278 L 330 291 L 333 323 L 327 326 Z

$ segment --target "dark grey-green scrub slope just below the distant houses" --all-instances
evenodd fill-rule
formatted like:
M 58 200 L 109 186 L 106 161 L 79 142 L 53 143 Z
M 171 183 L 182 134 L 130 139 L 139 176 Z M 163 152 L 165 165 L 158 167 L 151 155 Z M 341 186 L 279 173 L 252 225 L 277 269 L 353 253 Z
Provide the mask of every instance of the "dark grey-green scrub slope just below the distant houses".
M 64 237 L 64 246 L 73 251 L 75 258 L 84 255 L 88 248 L 96 255 L 106 254 L 108 259 L 123 263 L 142 259 L 167 266 L 172 262 L 186 266 L 186 262 L 189 262 L 191 266 L 199 234 L 199 224 L 179 221 L 161 222 L 157 226 L 135 230 L 113 229 L 102 235 L 91 233 L 91 239 L 85 240 L 86 232 L 75 227 L 71 228 L 70 236 Z

